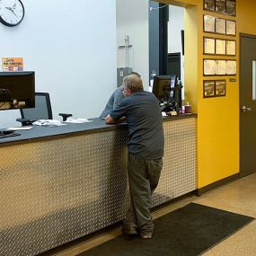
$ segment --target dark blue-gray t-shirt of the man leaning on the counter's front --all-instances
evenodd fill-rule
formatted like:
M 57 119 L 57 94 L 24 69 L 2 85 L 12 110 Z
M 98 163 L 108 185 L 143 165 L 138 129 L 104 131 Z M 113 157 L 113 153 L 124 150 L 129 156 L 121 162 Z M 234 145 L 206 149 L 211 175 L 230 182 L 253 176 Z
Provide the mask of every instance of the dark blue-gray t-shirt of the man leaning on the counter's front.
M 163 157 L 163 118 L 154 94 L 137 92 L 124 98 L 110 112 L 115 120 L 123 116 L 128 122 L 128 152 L 139 158 Z

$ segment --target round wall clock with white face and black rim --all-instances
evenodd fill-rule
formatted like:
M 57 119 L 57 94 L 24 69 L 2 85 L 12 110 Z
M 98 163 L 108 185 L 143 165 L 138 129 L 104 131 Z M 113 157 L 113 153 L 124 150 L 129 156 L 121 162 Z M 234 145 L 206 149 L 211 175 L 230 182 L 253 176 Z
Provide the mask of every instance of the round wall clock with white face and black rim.
M 24 6 L 20 0 L 0 0 L 0 22 L 13 27 L 22 22 Z

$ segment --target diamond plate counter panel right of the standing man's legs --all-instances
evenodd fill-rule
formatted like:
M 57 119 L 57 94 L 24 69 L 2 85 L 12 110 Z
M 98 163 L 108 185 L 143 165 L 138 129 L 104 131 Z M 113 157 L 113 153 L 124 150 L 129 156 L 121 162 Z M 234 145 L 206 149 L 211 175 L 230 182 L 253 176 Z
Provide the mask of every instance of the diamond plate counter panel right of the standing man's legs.
M 163 171 L 154 191 L 153 206 L 196 190 L 196 119 L 163 122 Z

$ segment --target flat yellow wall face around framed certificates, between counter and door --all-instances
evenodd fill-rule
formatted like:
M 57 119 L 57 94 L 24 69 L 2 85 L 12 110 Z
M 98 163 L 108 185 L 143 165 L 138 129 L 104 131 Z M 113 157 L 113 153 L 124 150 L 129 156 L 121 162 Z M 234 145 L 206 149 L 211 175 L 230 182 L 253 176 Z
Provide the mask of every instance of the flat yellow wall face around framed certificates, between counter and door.
M 203 1 L 199 3 L 199 84 L 198 84 L 198 170 L 199 188 L 224 179 L 239 172 L 239 87 L 237 82 L 229 82 L 236 76 L 218 76 L 209 79 L 225 79 L 226 96 L 203 98 L 203 14 L 211 14 L 225 19 L 236 18 L 203 11 Z M 223 35 L 215 38 L 234 39 Z M 239 37 L 236 37 L 236 41 Z M 237 59 L 236 57 L 213 57 Z M 237 77 L 236 77 L 237 79 Z

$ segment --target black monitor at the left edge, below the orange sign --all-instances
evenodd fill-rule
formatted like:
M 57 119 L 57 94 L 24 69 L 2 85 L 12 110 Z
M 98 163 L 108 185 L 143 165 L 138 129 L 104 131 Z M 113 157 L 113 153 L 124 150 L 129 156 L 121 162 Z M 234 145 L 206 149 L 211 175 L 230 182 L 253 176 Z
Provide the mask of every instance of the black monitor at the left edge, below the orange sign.
M 0 72 L 0 110 L 35 107 L 35 73 Z

